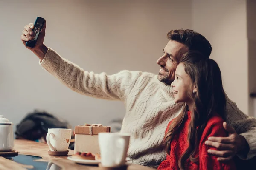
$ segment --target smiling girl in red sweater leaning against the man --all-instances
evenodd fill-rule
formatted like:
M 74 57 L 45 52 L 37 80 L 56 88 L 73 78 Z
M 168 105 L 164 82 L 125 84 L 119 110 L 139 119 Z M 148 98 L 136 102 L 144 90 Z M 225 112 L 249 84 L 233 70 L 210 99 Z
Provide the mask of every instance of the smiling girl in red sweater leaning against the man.
M 235 170 L 233 160 L 221 163 L 207 153 L 210 136 L 227 136 L 223 123 L 226 98 L 218 64 L 198 52 L 183 55 L 172 82 L 174 101 L 183 111 L 169 122 L 167 156 L 158 170 Z M 216 149 L 215 149 L 216 150 Z

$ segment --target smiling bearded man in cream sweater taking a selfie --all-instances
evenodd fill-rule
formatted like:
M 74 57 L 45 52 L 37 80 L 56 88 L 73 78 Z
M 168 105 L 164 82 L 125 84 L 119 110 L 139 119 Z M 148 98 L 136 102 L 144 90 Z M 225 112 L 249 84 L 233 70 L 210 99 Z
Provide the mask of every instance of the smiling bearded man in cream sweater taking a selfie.
M 32 39 L 30 23 L 25 26 L 21 40 Z M 44 42 L 46 22 L 34 48 L 29 48 L 40 59 L 40 65 L 64 85 L 80 94 L 100 99 L 120 100 L 126 105 L 121 132 L 131 133 L 128 156 L 132 163 L 157 167 L 166 153 L 163 146 L 164 132 L 170 120 L 181 111 L 182 104 L 172 98 L 170 84 L 175 79 L 175 69 L 180 57 L 188 50 L 200 51 L 209 57 L 210 43 L 192 30 L 172 30 L 170 40 L 157 60 L 159 75 L 141 71 L 120 71 L 117 74 L 94 74 L 62 58 Z M 227 125 L 228 124 L 228 125 Z M 227 124 L 224 128 L 229 136 L 212 137 L 207 145 L 218 148 L 209 149 L 209 154 L 218 156 L 219 161 L 232 159 L 236 154 L 241 159 L 256 155 L 256 119 L 242 113 L 236 104 L 227 99 Z M 238 135 L 239 134 L 239 135 Z

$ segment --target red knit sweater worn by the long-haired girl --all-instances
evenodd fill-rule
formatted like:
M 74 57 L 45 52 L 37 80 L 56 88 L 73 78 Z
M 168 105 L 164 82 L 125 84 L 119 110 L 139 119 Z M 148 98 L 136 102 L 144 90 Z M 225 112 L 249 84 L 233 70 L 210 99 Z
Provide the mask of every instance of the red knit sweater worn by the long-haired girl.
M 184 126 L 180 129 L 180 133 L 174 136 L 174 139 L 171 142 L 171 152 L 170 155 L 167 154 L 166 160 L 164 160 L 159 167 L 158 170 L 179 170 L 178 161 L 180 156 L 185 152 L 188 148 L 189 143 L 187 140 L 188 136 L 188 128 L 189 122 L 191 120 L 190 111 L 188 112 L 188 119 L 184 123 Z M 199 148 L 197 150 L 196 156 L 199 155 L 199 162 L 193 163 L 190 160 L 187 160 L 185 163 L 185 167 L 187 170 L 236 170 L 235 164 L 233 160 L 221 163 L 217 161 L 217 156 L 212 156 L 207 153 L 208 149 L 216 150 L 216 148 L 208 147 L 204 144 L 210 136 L 216 137 L 225 137 L 227 136 L 227 132 L 223 127 L 224 120 L 218 114 L 212 116 L 207 122 L 207 125 L 202 133 L 202 137 L 200 140 Z M 169 122 L 166 132 L 169 129 Z

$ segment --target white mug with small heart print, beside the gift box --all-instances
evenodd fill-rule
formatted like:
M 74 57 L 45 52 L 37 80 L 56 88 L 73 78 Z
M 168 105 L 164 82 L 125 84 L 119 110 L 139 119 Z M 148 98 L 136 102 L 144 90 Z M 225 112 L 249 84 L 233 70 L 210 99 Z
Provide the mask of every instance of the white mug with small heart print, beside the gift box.
M 67 151 L 71 139 L 71 129 L 48 129 L 46 141 L 51 151 Z

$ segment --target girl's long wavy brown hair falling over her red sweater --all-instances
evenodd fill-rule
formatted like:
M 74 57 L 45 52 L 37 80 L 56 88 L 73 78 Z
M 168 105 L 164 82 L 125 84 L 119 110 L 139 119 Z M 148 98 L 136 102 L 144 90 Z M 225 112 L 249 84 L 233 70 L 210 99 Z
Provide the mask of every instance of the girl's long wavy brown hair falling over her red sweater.
M 209 58 L 204 57 L 196 51 L 189 51 L 180 59 L 183 63 L 186 74 L 192 80 L 190 99 L 194 102 L 191 111 L 191 122 L 189 124 L 188 142 L 189 147 L 182 154 L 178 161 L 181 170 L 185 169 L 185 162 L 189 159 L 192 162 L 198 162 L 195 157 L 198 149 L 201 135 L 207 121 L 213 113 L 218 113 L 225 120 L 226 97 L 221 80 L 221 71 L 218 64 Z M 192 93 L 193 85 L 196 85 L 197 92 Z M 171 151 L 171 142 L 175 134 L 180 132 L 187 119 L 188 106 L 184 104 L 182 112 L 177 116 L 169 127 L 165 135 L 166 151 Z

